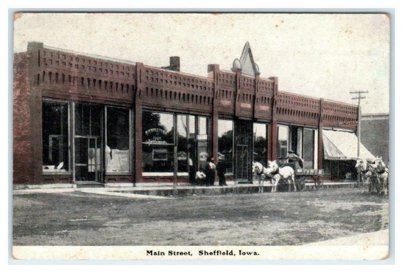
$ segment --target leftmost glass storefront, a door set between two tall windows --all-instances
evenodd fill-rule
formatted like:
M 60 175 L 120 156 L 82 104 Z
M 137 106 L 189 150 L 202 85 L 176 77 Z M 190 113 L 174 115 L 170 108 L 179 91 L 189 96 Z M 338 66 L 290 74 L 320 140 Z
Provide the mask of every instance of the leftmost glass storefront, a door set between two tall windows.
M 78 184 L 132 174 L 130 108 L 42 100 L 43 175 L 72 175 Z

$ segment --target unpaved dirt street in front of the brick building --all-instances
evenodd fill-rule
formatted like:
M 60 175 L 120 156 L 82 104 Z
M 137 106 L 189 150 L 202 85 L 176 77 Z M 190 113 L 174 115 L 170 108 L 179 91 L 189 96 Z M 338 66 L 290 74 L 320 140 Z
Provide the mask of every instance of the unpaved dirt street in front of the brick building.
M 388 197 L 360 189 L 133 199 L 13 197 L 14 245 L 301 245 L 389 226 Z

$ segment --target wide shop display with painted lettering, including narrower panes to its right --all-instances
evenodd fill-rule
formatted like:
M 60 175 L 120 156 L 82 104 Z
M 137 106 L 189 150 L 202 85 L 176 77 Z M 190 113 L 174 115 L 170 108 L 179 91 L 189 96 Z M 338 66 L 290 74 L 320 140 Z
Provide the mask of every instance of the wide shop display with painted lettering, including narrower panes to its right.
M 143 175 L 176 173 L 192 181 L 206 166 L 208 135 L 208 117 L 143 111 Z

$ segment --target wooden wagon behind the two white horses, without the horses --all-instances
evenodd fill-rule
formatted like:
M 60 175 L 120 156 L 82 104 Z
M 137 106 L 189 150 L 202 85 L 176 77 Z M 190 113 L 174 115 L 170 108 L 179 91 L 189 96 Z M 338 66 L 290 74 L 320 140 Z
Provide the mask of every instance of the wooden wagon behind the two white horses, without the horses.
M 279 158 L 279 166 L 280 168 L 290 166 L 294 169 L 295 185 L 299 191 L 304 191 L 306 182 L 315 183 L 315 189 L 320 190 L 323 186 L 323 169 L 300 169 L 297 161 L 298 158 L 295 157 Z

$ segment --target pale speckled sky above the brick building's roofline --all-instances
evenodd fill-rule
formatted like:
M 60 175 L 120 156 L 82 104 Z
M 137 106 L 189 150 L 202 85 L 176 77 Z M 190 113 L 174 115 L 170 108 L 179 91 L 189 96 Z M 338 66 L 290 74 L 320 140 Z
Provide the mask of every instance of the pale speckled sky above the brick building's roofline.
M 14 24 L 14 51 L 28 41 L 207 76 L 230 70 L 249 41 L 260 77 L 279 90 L 389 112 L 390 22 L 383 14 L 101 14 L 25 13 Z

